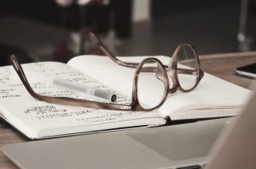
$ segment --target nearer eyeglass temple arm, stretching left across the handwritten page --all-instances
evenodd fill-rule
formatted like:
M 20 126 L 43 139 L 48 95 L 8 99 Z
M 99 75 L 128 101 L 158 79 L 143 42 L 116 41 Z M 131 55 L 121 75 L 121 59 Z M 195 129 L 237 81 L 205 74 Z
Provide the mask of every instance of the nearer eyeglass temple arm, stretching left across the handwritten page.
M 32 95 L 34 99 L 38 99 L 40 101 L 44 101 L 51 104 L 64 104 L 64 105 L 72 105 L 72 106 L 79 106 L 79 107 L 87 107 L 87 108 L 94 108 L 94 109 L 104 109 L 104 110 L 131 110 L 131 105 L 123 105 L 123 104 L 110 104 L 110 103 L 103 103 L 103 102 L 96 102 L 84 99 L 72 99 L 67 97 L 50 97 L 50 96 L 43 96 L 38 93 L 35 93 L 32 87 L 29 85 L 29 82 L 26 79 L 25 73 L 16 59 L 15 55 L 11 55 L 11 63 L 15 68 L 18 76 L 20 77 L 21 82 L 26 87 L 28 93 Z

